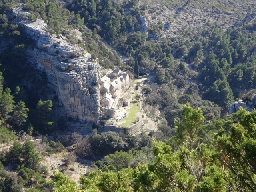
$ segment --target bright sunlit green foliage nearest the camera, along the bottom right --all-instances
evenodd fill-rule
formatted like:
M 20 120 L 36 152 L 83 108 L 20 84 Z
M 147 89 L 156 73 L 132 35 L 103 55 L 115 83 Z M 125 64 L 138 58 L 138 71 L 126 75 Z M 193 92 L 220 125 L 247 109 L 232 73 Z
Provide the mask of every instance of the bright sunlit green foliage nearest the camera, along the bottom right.
M 132 160 L 131 152 L 116 152 L 105 159 L 110 164 L 114 162 L 118 169 L 89 172 L 88 177 L 82 175 L 80 186 L 56 172 L 54 190 L 254 191 L 256 112 L 240 109 L 229 118 L 232 123 L 227 127 L 220 122 L 207 125 L 216 126 L 216 130 L 218 125 L 222 128 L 212 137 L 210 143 L 201 143 L 195 138 L 198 130 L 203 129 L 200 126 L 203 120 L 202 111 L 185 104 L 181 122 L 177 122 L 177 126 L 182 127 L 182 134 L 178 134 L 180 130 L 177 130 L 177 136 L 167 142 L 155 140 L 152 147 L 154 160 L 148 165 L 139 163 L 134 168 L 127 168 L 126 163 Z M 171 146 L 175 146 L 175 149 Z M 120 170 L 120 167 L 123 169 Z

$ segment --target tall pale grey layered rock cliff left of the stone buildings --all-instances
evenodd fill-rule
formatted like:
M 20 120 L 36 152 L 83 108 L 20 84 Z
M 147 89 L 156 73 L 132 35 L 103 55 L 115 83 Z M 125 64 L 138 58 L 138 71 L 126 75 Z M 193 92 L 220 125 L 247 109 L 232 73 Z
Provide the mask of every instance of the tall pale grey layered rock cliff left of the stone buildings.
M 90 132 L 100 116 L 98 61 L 65 37 L 50 35 L 43 20 L 18 24 L 35 42 L 35 47 L 27 51 L 28 60 L 35 70 L 45 72 L 51 90 L 46 95 L 56 100 L 57 118 L 64 117 L 72 130 Z

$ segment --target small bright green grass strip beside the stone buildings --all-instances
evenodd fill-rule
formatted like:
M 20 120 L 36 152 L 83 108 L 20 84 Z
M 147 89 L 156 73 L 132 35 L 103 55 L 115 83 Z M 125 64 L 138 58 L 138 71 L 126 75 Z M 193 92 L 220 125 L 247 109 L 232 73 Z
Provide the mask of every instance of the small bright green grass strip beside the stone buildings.
M 127 111 L 128 116 L 123 118 L 123 123 L 120 124 L 120 126 L 124 128 L 130 127 L 132 124 L 136 123 L 136 116 L 140 112 L 140 106 L 138 106 L 138 100 L 133 99 L 132 102 L 130 103 L 130 110 Z

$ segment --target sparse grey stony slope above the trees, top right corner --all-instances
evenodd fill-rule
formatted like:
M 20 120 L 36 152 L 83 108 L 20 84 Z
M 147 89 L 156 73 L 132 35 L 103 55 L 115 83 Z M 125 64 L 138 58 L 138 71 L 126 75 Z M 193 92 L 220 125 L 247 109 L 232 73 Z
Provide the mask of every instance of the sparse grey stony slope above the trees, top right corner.
M 161 21 L 162 35 L 170 38 L 206 23 L 218 22 L 224 29 L 241 26 L 256 16 L 256 2 L 250 0 L 145 0 L 140 4 L 148 7 L 148 22 L 157 26 Z

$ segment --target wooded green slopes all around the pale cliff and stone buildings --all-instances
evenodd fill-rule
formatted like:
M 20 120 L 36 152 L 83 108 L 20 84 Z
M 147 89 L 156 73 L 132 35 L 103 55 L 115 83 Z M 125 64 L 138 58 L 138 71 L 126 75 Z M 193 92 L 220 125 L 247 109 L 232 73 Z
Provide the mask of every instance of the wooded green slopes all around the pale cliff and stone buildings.
M 256 20 L 251 18 L 256 6 L 244 2 L 246 12 L 234 16 L 231 10 L 237 6 L 225 4 L 225 12 L 216 1 L 214 14 L 219 8 L 239 22 L 205 19 L 194 28 L 188 22 L 175 35 L 166 35 L 168 25 L 183 18 L 182 10 L 194 2 L 162 1 L 161 6 L 179 8 L 166 23 L 157 17 L 157 2 L 0 1 L 0 191 L 256 190 L 256 111 L 241 108 L 228 115 L 232 102 L 250 102 L 255 93 Z M 198 8 L 205 6 L 198 1 Z M 18 18 L 15 8 L 24 10 Z M 100 125 L 94 125 L 90 136 L 66 135 L 66 120 L 54 115 L 57 99 L 41 98 L 47 78 L 30 66 L 26 51 L 34 43 L 17 19 L 44 20 L 47 32 L 90 52 L 102 69 L 120 68 L 132 79 L 150 74 L 143 96 L 154 109 L 147 116 L 158 130 L 99 133 Z M 82 40 L 73 30 L 82 33 Z M 63 168 L 44 165 L 49 156 L 62 152 L 67 154 Z M 75 182 L 69 177 L 75 169 L 70 165 L 79 158 L 92 161 L 92 171 Z

